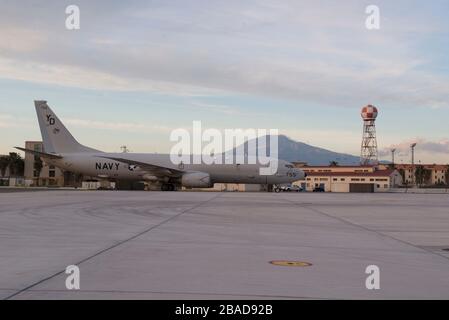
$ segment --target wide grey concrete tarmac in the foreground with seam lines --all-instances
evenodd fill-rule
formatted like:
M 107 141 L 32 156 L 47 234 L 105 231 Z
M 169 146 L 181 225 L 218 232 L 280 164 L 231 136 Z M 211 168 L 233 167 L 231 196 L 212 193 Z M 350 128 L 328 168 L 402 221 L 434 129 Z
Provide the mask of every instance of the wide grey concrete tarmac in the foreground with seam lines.
M 2 299 L 449 299 L 445 249 L 447 195 L 0 193 Z

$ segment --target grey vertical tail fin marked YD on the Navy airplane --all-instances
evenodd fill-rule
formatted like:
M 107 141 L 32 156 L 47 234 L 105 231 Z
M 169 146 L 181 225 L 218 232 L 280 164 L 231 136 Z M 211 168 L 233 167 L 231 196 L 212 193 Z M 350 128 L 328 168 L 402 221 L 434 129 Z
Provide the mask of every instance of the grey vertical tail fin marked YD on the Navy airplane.
M 99 150 L 78 143 L 61 120 L 50 109 L 47 101 L 34 101 L 34 106 L 36 107 L 37 119 L 46 153 L 99 152 Z

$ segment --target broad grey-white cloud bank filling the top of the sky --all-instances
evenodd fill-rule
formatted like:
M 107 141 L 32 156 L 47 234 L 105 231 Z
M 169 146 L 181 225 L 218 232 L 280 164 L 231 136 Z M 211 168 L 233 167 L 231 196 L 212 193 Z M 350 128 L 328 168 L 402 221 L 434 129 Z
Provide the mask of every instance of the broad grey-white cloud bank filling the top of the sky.
M 369 100 L 449 107 L 448 75 L 431 71 L 435 53 L 422 47 L 447 24 L 430 20 L 425 10 L 394 14 L 396 7 L 381 1 L 389 9 L 381 11 L 382 29 L 369 32 L 358 1 L 79 6 L 81 30 L 70 32 L 61 19 L 64 3 L 43 4 L 38 14 L 7 3 L 0 37 L 17 39 L 17 45 L 0 47 L 2 77 L 193 96 L 244 93 L 332 106 Z

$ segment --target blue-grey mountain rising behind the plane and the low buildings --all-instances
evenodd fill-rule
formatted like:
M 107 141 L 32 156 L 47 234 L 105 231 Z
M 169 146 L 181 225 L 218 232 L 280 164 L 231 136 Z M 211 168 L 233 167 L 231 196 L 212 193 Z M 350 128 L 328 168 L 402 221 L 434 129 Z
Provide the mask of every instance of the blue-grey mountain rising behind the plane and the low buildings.
M 248 142 L 245 142 L 245 151 L 247 146 Z M 290 162 L 303 161 L 309 165 L 329 165 L 331 161 L 336 161 L 340 165 L 360 164 L 360 157 L 314 147 L 303 142 L 294 141 L 284 135 L 279 136 L 278 148 L 279 159 Z

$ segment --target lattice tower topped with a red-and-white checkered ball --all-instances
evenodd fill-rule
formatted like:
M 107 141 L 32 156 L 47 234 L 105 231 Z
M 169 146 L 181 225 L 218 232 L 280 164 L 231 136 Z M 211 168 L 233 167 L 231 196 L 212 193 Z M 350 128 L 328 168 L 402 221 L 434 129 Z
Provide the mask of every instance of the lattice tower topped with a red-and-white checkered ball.
M 362 108 L 363 137 L 360 151 L 361 165 L 376 165 L 378 163 L 376 138 L 377 114 L 377 108 L 373 105 L 369 104 Z

